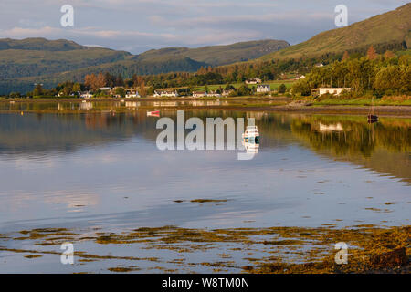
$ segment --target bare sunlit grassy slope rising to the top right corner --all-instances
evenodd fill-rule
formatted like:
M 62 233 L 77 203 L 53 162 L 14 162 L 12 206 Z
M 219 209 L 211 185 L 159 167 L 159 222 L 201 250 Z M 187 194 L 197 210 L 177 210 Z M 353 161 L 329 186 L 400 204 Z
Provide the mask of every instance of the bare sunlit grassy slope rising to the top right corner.
M 376 47 L 411 47 L 411 3 L 382 15 L 373 16 L 351 26 L 332 29 L 313 36 L 308 41 L 260 57 L 262 60 L 300 57 L 321 57 L 345 50 Z

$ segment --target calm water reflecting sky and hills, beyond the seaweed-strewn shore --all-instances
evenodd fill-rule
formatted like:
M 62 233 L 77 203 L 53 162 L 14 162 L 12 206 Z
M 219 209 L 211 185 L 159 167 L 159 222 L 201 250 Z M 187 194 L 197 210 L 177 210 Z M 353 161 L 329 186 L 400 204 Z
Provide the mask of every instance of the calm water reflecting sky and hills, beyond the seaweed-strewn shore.
M 176 112 L 161 116 L 175 120 Z M 355 116 L 229 110 L 185 116 L 256 118 L 258 154 L 238 161 L 238 151 L 159 151 L 158 118 L 146 110 L 0 113 L 0 234 L 409 224 L 410 119 L 368 125 Z

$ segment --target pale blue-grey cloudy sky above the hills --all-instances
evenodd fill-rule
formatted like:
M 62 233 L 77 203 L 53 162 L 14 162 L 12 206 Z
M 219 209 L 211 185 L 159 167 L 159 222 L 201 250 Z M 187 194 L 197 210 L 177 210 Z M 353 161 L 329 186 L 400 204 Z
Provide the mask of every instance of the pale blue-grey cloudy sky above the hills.
M 405 5 L 406 0 L 1 0 L 0 38 L 46 37 L 139 54 L 161 47 L 203 47 L 281 39 L 291 45 Z M 72 5 L 74 26 L 60 25 Z

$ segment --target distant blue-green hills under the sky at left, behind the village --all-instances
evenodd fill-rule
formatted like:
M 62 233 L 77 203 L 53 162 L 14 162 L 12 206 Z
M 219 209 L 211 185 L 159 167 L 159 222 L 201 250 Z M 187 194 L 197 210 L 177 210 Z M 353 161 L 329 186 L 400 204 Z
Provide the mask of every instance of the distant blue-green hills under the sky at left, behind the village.
M 86 74 L 158 74 L 194 72 L 205 66 L 226 65 L 261 57 L 289 47 L 285 41 L 261 40 L 215 47 L 166 47 L 140 55 L 104 47 L 85 47 L 59 39 L 0 39 L 0 94 L 26 92 L 33 83 L 55 86 L 67 79 L 82 80 Z

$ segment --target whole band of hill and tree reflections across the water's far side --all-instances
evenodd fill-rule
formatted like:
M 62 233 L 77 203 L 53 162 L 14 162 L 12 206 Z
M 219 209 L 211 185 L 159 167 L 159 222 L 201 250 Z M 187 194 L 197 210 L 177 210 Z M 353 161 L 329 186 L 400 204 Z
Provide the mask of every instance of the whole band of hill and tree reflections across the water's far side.
M 176 123 L 175 110 L 162 116 Z M 260 150 L 302 144 L 342 162 L 352 162 L 375 172 L 395 175 L 411 183 L 409 120 L 385 119 L 368 125 L 363 118 L 266 114 L 230 110 L 186 111 L 185 120 L 198 117 L 253 117 L 261 134 Z M 155 143 L 161 130 L 157 119 L 145 110 L 116 113 L 109 110 L 83 114 L 1 114 L 0 154 L 44 151 L 75 151 L 85 145 L 100 145 L 140 136 Z

